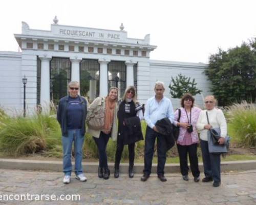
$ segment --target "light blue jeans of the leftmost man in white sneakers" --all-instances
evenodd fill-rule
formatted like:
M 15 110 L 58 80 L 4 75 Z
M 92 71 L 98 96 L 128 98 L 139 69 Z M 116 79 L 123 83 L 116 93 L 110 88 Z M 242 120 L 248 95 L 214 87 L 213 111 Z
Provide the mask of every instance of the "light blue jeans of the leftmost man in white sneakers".
M 75 174 L 83 173 L 82 170 L 82 146 L 84 136 L 81 136 L 81 130 L 68 130 L 68 136 L 62 136 L 62 147 L 63 147 L 63 172 L 65 175 L 71 176 L 72 163 L 72 145 L 74 141 L 75 150 Z

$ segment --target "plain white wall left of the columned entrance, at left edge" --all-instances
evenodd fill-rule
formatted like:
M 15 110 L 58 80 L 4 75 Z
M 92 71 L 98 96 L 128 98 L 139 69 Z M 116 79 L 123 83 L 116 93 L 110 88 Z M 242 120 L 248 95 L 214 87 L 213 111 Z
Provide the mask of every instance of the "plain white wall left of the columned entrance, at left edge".
M 0 51 L 0 106 L 5 110 L 22 108 L 21 63 L 21 53 Z

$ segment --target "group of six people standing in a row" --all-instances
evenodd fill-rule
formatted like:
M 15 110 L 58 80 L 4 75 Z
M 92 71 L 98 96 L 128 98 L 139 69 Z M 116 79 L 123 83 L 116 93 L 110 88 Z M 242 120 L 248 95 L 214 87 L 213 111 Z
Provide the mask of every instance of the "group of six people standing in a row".
M 157 138 L 157 175 L 161 181 L 166 181 L 164 166 L 166 152 L 173 146 L 165 132 L 169 132 L 172 126 L 179 127 L 179 136 L 176 144 L 180 158 L 180 171 L 182 178 L 188 181 L 188 161 L 194 176 L 194 181 L 200 180 L 198 167 L 197 147 L 199 143 L 202 150 L 204 174 L 203 182 L 214 181 L 213 186 L 218 187 L 221 183 L 220 155 L 221 153 L 210 153 L 208 150 L 207 131 L 213 127 L 221 130 L 219 144 L 225 143 L 227 125 L 223 112 L 216 108 L 216 99 L 209 95 L 204 99 L 206 110 L 194 106 L 195 98 L 187 93 L 181 98 L 181 108 L 174 113 L 172 102 L 164 96 L 164 84 L 160 81 L 155 84 L 155 96 L 147 100 L 143 116 L 143 106 L 137 101 L 136 88 L 129 86 L 124 95 L 118 100 L 118 88 L 111 87 L 108 96 L 97 97 L 90 106 L 87 100 L 78 95 L 79 83 L 69 83 L 69 95 L 59 101 L 57 120 L 62 132 L 63 146 L 63 172 L 65 177 L 63 183 L 69 183 L 72 172 L 72 146 L 75 153 L 75 175 L 80 181 L 87 178 L 82 170 L 82 146 L 84 135 L 93 136 L 99 152 L 98 177 L 109 179 L 110 170 L 106 147 L 111 137 L 117 140 L 115 154 L 114 177 L 119 177 L 119 165 L 124 145 L 129 148 L 129 177 L 134 176 L 135 143 L 142 140 L 140 121 L 144 118 L 147 124 L 144 148 L 144 170 L 141 181 L 150 177 L 152 160 L 154 155 L 155 141 Z M 207 114 L 207 115 L 206 115 Z M 94 118 L 95 124 L 88 123 Z M 91 121 L 92 122 L 92 121 Z M 170 145 L 171 144 L 171 145 Z

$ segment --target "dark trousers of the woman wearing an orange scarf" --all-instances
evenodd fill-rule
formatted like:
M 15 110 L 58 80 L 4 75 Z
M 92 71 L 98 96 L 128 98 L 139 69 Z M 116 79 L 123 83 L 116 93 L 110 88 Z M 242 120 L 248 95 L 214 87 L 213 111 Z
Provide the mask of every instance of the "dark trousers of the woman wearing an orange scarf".
M 108 157 L 106 156 L 106 145 L 110 139 L 110 134 L 100 132 L 99 138 L 93 137 L 99 150 L 99 167 L 108 169 Z

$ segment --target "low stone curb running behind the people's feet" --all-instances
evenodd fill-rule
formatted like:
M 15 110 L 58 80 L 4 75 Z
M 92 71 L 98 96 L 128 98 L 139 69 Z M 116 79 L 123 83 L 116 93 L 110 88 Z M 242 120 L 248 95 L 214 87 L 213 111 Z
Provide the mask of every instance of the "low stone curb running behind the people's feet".
M 72 162 L 74 165 L 74 162 Z M 83 170 L 86 173 L 97 173 L 98 162 L 82 162 Z M 256 167 L 256 160 L 246 161 L 223 161 L 221 162 L 221 171 L 245 171 L 253 170 Z M 110 171 L 114 172 L 114 163 L 109 163 Z M 120 173 L 127 173 L 129 163 L 120 164 Z M 143 173 L 144 164 L 135 163 L 135 173 Z M 40 161 L 40 160 L 27 160 L 27 159 L 1 159 L 0 169 L 18 169 L 18 170 L 41 170 L 62 172 L 62 161 Z M 199 169 L 203 171 L 203 163 L 199 163 Z M 152 173 L 156 173 L 157 164 L 152 164 Z M 165 173 L 180 172 L 179 163 L 166 164 L 164 168 Z

